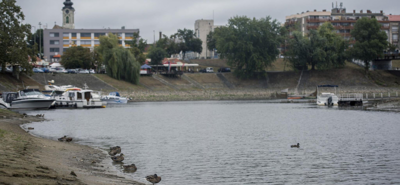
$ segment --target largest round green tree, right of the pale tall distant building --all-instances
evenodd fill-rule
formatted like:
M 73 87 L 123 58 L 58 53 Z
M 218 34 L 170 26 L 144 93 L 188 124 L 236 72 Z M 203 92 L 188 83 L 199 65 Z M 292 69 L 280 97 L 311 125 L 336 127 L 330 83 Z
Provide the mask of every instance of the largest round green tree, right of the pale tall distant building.
M 265 18 L 235 16 L 214 30 L 216 49 L 240 78 L 261 77 L 279 55 L 280 24 Z M 261 73 L 260 73 L 261 72 Z M 261 75 L 259 75 L 261 74 Z

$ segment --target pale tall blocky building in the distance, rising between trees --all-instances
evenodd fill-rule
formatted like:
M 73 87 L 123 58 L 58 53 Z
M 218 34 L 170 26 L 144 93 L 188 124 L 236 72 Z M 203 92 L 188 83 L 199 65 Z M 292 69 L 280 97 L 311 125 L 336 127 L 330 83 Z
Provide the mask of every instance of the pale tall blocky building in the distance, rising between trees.
M 196 20 L 194 21 L 194 33 L 197 38 L 200 38 L 202 41 L 202 51 L 201 53 L 197 53 L 195 57 L 200 59 L 202 58 L 215 58 L 217 57 L 215 50 L 209 50 L 207 48 L 207 35 L 210 31 L 214 31 L 216 27 L 220 25 L 214 25 L 214 20 Z

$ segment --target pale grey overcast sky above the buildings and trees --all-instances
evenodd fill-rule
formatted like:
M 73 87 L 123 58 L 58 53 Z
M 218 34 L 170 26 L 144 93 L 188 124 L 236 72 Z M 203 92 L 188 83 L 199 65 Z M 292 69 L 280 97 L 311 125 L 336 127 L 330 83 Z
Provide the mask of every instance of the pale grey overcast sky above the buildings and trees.
M 38 28 L 38 23 L 52 28 L 62 24 L 61 8 L 65 0 L 16 0 L 22 7 L 25 22 Z M 140 36 L 153 42 L 153 30 L 171 35 L 177 29 L 194 29 L 196 19 L 212 19 L 214 25 L 224 25 L 232 16 L 263 17 L 270 15 L 280 22 L 285 16 L 302 11 L 330 11 L 329 0 L 71 0 L 75 8 L 75 28 L 138 28 Z M 339 4 L 340 1 L 337 3 Z M 335 1 L 336 3 L 336 1 Z M 370 9 L 372 12 L 400 14 L 399 0 L 343 1 L 347 12 Z M 33 31 L 33 27 L 32 27 Z

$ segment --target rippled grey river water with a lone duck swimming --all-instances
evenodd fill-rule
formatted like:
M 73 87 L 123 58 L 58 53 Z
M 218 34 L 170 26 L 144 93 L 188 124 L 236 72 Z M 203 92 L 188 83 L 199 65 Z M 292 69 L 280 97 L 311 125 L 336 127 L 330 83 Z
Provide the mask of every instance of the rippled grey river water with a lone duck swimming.
M 24 125 L 106 149 L 159 184 L 400 183 L 400 113 L 268 101 L 140 102 L 25 111 Z M 300 148 L 290 148 L 299 142 Z M 121 164 L 114 164 L 120 169 Z

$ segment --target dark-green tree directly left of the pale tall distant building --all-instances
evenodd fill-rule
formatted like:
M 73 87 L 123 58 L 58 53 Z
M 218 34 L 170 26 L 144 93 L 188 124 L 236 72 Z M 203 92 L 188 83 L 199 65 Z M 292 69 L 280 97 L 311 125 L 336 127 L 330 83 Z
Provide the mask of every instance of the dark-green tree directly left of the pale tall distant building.
M 193 30 L 186 28 L 178 29 L 176 36 L 178 39 L 182 40 L 182 42 L 177 44 L 177 48 L 179 52 L 182 51 L 183 58 L 187 51 L 193 51 L 197 53 L 202 51 L 202 41 L 200 38 L 195 37 Z

